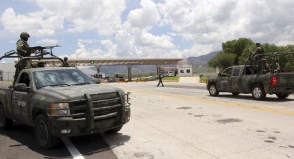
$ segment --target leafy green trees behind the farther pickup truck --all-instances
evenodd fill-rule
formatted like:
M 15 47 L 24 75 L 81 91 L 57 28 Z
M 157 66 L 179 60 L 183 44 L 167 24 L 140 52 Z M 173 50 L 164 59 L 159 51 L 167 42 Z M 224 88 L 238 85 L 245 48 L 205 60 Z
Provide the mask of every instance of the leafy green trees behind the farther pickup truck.
M 287 51 L 294 53 L 294 45 L 276 46 L 274 44 L 262 44 L 265 53 L 275 53 L 277 51 Z M 217 67 L 221 70 L 228 66 L 245 64 L 250 57 L 250 52 L 256 50 L 255 43 L 248 38 L 239 38 L 226 41 L 222 44 L 223 50 L 208 62 L 209 66 Z M 286 71 L 294 71 L 293 55 L 281 56 L 278 58 L 279 65 Z

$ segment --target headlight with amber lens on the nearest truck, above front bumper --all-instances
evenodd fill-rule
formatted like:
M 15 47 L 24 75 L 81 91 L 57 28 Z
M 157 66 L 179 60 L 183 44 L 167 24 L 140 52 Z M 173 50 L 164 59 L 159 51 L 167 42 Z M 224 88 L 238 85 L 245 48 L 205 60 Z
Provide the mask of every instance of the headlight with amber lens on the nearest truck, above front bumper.
M 71 115 L 68 103 L 50 103 L 49 115 Z

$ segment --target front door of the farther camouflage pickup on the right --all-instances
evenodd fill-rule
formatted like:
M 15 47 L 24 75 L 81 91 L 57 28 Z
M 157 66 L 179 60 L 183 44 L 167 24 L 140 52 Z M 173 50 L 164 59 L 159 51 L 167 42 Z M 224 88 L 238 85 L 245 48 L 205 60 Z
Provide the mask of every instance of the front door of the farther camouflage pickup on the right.
M 221 78 L 219 83 L 219 91 L 229 91 L 231 86 L 230 86 L 230 77 L 232 76 L 232 67 L 226 68 L 223 73 L 221 73 Z

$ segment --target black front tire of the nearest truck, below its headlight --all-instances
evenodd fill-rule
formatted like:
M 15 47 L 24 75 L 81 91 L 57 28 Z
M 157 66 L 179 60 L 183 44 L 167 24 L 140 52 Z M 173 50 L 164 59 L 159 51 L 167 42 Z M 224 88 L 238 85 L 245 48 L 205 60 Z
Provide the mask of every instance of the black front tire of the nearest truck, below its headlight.
M 51 135 L 51 129 L 48 120 L 44 114 L 40 114 L 35 119 L 35 138 L 43 149 L 53 149 L 60 143 L 59 138 Z

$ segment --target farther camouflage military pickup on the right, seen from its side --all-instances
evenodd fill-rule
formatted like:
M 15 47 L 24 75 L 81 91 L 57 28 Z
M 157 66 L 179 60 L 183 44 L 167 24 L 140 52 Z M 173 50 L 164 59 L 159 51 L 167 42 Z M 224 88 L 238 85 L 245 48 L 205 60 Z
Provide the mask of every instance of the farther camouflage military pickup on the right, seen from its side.
M 281 55 L 293 55 L 293 53 L 273 53 L 262 55 L 267 59 L 275 59 Z M 257 55 L 255 59 L 261 59 Z M 219 92 L 229 92 L 232 95 L 239 93 L 252 93 L 255 100 L 264 100 L 266 94 L 275 94 L 280 99 L 285 99 L 291 93 L 294 93 L 294 73 L 286 72 L 283 68 L 277 70 L 275 64 L 266 64 L 263 66 L 246 62 L 246 65 L 231 66 L 226 68 L 218 77 L 210 77 L 207 81 L 207 89 L 212 96 L 219 95 Z

